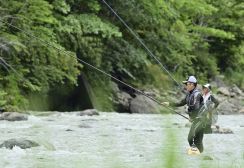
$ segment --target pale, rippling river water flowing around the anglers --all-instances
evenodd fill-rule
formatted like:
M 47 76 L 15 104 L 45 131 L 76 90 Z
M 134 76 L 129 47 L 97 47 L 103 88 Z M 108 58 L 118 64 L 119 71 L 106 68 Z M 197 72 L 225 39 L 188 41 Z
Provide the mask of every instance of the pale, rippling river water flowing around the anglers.
M 234 134 L 204 136 L 204 153 L 186 154 L 187 120 L 178 115 L 53 113 L 0 121 L 0 143 L 24 138 L 39 147 L 0 149 L 0 168 L 244 168 L 244 115 L 219 116 Z

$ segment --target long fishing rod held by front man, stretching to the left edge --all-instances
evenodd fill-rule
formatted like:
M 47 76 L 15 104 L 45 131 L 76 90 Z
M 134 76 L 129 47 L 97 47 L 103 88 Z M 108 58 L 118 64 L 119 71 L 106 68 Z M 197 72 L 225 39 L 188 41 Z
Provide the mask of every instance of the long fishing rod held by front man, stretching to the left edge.
M 14 25 L 12 25 L 12 24 L 10 24 L 10 23 L 7 23 L 7 22 L 1 20 L 1 19 L 0 19 L 0 22 L 5 23 L 5 24 L 7 24 L 7 25 L 9 25 L 9 26 L 11 26 L 11 27 L 13 27 L 13 28 L 15 28 L 15 29 L 17 29 L 17 30 L 23 32 L 23 33 L 26 34 L 28 37 L 31 37 L 31 38 L 33 38 L 33 39 L 36 39 L 36 40 L 40 41 L 43 45 L 45 45 L 45 46 L 47 46 L 47 47 L 53 47 L 54 49 L 58 50 L 59 52 L 62 52 L 62 53 L 64 53 L 65 55 L 68 55 L 68 56 L 70 56 L 70 57 L 73 57 L 73 58 L 77 59 L 78 61 L 80 61 L 81 63 L 83 63 L 83 64 L 85 64 L 85 65 L 87 65 L 87 66 L 89 66 L 89 67 L 91 67 L 92 69 L 95 69 L 96 71 L 98 71 L 98 72 L 100 72 L 100 73 L 103 73 L 104 75 L 106 75 L 106 76 L 108 76 L 108 77 L 114 79 L 115 81 L 117 81 L 117 82 L 119 82 L 119 83 L 121 83 L 121 84 L 123 84 L 123 85 L 125 85 L 125 86 L 127 86 L 127 87 L 129 87 L 129 88 L 131 88 L 131 89 L 133 89 L 133 90 L 135 90 L 137 93 L 146 96 L 147 98 L 149 98 L 149 99 L 151 99 L 152 101 L 158 103 L 159 105 L 162 105 L 162 106 L 164 106 L 165 108 L 169 109 L 170 111 L 172 111 L 172 112 L 174 112 L 174 113 L 176 113 L 176 114 L 178 114 L 178 115 L 184 117 L 185 119 L 189 120 L 188 117 L 184 116 L 183 114 L 181 114 L 181 113 L 175 111 L 174 109 L 172 109 L 172 108 L 170 108 L 170 107 L 168 107 L 168 106 L 165 106 L 165 105 L 164 105 L 163 103 L 161 103 L 159 100 L 157 100 L 157 99 L 155 99 L 155 98 L 153 98 L 153 97 L 147 95 L 146 93 L 142 92 L 141 90 L 139 90 L 139 89 L 137 89 L 137 88 L 135 88 L 135 87 L 133 87 L 133 86 L 131 86 L 131 85 L 129 85 L 129 84 L 127 84 L 127 83 L 121 81 L 121 80 L 119 80 L 118 78 L 116 78 L 116 77 L 114 77 L 114 76 L 108 74 L 107 72 L 105 72 L 105 71 L 103 71 L 103 70 L 101 70 L 101 69 L 99 69 L 99 68 L 97 68 L 97 67 L 95 67 L 95 66 L 89 64 L 88 62 L 86 62 L 86 61 L 84 61 L 84 60 L 82 60 L 82 59 L 80 59 L 80 58 L 77 58 L 76 56 L 71 55 L 71 54 L 68 53 L 67 51 L 64 51 L 64 50 L 62 50 L 62 49 L 56 47 L 55 45 L 51 44 L 50 42 L 45 41 L 45 40 L 43 40 L 43 39 L 41 39 L 41 38 L 39 38 L 39 37 L 33 35 L 32 33 L 27 32 L 27 31 L 25 31 L 25 30 L 23 30 L 23 29 L 21 29 L 21 28 L 18 28 L 18 27 L 14 26 Z

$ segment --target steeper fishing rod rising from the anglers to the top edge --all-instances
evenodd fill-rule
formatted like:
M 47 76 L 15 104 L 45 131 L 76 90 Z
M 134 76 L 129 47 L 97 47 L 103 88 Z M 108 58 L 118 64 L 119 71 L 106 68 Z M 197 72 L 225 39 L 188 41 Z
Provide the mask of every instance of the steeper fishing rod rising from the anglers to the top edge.
M 124 24 L 124 26 L 131 32 L 131 34 L 140 42 L 140 44 L 148 52 L 149 56 L 155 59 L 155 61 L 160 65 L 161 69 L 168 74 L 168 76 L 178 85 L 179 88 L 181 88 L 182 85 L 180 85 L 179 82 L 177 82 L 174 79 L 171 73 L 165 68 L 165 66 L 160 62 L 160 60 L 152 53 L 152 51 L 147 47 L 147 45 L 142 41 L 142 39 L 130 28 L 130 26 L 117 14 L 117 12 L 105 0 L 102 1 L 109 8 L 109 10 L 112 11 L 114 15 Z

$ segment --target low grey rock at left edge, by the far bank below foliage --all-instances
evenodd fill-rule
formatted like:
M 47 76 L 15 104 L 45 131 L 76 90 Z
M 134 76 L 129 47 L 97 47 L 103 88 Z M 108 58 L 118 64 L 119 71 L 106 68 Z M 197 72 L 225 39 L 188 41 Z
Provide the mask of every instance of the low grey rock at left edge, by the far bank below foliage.
M 0 115 L 0 120 L 23 121 L 28 120 L 28 116 L 17 112 L 4 112 Z

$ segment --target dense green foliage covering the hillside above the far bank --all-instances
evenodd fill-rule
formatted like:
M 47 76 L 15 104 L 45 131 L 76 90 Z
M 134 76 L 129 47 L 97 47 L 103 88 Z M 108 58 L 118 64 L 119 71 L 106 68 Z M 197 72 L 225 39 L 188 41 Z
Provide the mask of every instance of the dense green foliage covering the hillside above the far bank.
M 244 88 L 243 1 L 108 3 L 176 79 L 194 74 L 207 81 L 224 74 Z M 102 0 L 0 1 L 0 19 L 0 106 L 7 110 L 28 108 L 34 93 L 76 85 L 81 72 L 91 84 L 103 79 L 78 59 L 135 86 L 170 83 Z

